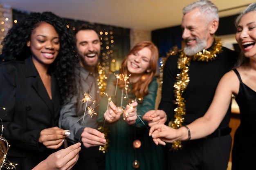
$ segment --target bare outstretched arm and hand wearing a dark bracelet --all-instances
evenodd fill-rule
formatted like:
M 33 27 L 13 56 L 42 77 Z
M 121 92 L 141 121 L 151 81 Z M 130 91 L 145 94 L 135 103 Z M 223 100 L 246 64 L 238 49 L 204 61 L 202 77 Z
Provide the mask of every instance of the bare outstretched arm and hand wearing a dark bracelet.
M 187 125 L 191 132 L 191 139 L 199 139 L 211 134 L 225 117 L 231 102 L 231 95 L 238 94 L 239 80 L 234 73 L 226 73 L 220 80 L 211 106 L 203 117 Z M 185 127 L 174 129 L 163 124 L 155 124 L 150 128 L 149 135 L 155 144 L 188 139 L 188 130 Z

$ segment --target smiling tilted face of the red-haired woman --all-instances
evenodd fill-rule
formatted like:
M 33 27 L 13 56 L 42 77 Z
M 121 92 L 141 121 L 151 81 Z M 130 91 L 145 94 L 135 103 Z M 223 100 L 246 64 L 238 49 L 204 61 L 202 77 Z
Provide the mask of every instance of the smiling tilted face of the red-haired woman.
M 148 47 L 128 55 L 127 57 L 127 69 L 132 74 L 143 75 L 146 71 L 150 72 L 150 59 L 152 53 Z

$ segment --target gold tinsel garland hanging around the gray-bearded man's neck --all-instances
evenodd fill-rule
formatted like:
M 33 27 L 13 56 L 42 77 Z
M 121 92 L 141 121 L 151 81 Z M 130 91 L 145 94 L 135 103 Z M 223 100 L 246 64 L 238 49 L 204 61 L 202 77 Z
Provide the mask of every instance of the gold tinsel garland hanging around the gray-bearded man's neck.
M 177 50 L 176 50 L 177 51 Z M 186 106 L 185 99 L 182 97 L 182 93 L 185 91 L 187 85 L 189 84 L 189 65 L 192 61 L 202 61 L 209 62 L 215 59 L 216 54 L 222 52 L 222 43 L 220 39 L 215 37 L 215 43 L 210 51 L 203 50 L 193 56 L 186 56 L 183 51 L 180 51 L 180 58 L 177 62 L 177 68 L 180 69 L 180 73 L 177 74 L 177 81 L 174 84 L 174 94 L 175 101 L 174 103 L 177 107 L 174 109 L 174 121 L 171 123 L 172 128 L 180 128 L 182 127 L 182 123 L 184 122 L 184 115 L 186 115 Z M 170 55 L 176 55 L 177 53 L 174 51 L 170 53 Z M 181 141 L 174 141 L 172 144 L 173 150 L 178 150 L 182 148 Z

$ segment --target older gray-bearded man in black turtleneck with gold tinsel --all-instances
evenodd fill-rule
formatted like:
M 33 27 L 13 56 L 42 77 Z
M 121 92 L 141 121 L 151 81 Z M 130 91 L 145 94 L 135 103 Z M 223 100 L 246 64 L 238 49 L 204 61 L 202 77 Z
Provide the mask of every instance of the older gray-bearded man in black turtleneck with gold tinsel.
M 158 110 L 144 115 L 149 126 L 166 123 L 180 128 L 202 117 L 209 108 L 220 78 L 235 64 L 238 54 L 222 46 L 214 35 L 218 29 L 218 8 L 199 0 L 183 9 L 183 51 L 166 60 L 162 98 Z M 173 87 L 170 90 L 170 87 Z M 155 115 L 156 117 L 154 117 Z M 168 146 L 169 170 L 226 170 L 231 150 L 231 109 L 211 135 Z M 202 129 L 203 130 L 203 129 Z M 180 149 L 182 148 L 182 149 Z

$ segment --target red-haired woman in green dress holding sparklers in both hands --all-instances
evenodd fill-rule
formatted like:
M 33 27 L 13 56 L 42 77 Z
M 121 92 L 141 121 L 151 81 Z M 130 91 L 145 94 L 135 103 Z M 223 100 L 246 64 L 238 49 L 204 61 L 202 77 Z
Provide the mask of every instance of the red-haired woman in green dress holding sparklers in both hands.
M 110 130 L 106 170 L 165 169 L 163 148 L 148 137 L 147 122 L 141 119 L 155 108 L 157 60 L 157 47 L 149 41 L 140 42 L 130 50 L 119 71 L 108 78 L 108 96 L 101 99 L 98 118 Z M 121 78 L 117 80 L 118 76 Z

